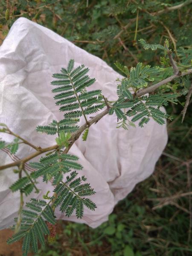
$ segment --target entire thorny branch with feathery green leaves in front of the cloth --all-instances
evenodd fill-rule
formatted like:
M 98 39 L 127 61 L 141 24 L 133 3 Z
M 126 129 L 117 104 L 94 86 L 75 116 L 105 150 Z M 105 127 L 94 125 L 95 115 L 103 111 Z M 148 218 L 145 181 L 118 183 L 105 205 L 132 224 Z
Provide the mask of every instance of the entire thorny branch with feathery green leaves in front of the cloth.
M 101 90 L 87 91 L 95 79 L 87 75 L 89 69 L 85 68 L 84 65 L 74 68 L 73 59 L 70 59 L 67 68 L 61 69 L 61 73 L 53 74 L 56 80 L 51 82 L 55 87 L 52 92 L 56 93 L 54 99 L 56 105 L 60 106 L 59 110 L 64 112 L 64 119 L 61 121 L 53 120 L 51 124 L 38 126 L 36 130 L 49 135 L 57 134 L 55 145 L 47 148 L 35 146 L 12 132 L 6 124 L 0 124 L 0 132 L 16 137 L 9 144 L 0 141 L 1 149 L 7 148 L 11 154 L 15 154 L 20 143 L 35 149 L 34 153 L 23 159 L 0 166 L 1 171 L 6 168 L 17 167 L 13 171 L 18 174 L 18 179 L 10 186 L 10 189 L 12 192 L 20 191 L 20 209 L 18 217 L 15 218 L 15 225 L 12 227 L 15 234 L 7 242 L 11 244 L 24 238 L 23 256 L 28 254 L 30 245 L 36 253 L 38 241 L 42 245 L 45 244 L 45 235 L 48 235 L 48 241 L 54 240 L 55 207 L 60 207 L 59 210 L 68 217 L 76 211 L 77 218 L 82 218 L 84 206 L 90 210 L 95 210 L 96 204 L 89 198 L 95 194 L 95 191 L 89 183 L 85 183 L 86 177 L 80 177 L 76 172 L 76 170 L 83 169 L 77 162 L 78 157 L 68 154 L 81 134 L 83 140 L 87 139 L 91 125 L 96 124 L 105 115 L 113 114 L 117 116 L 118 127 L 124 129 L 128 129 L 129 125 L 135 126 L 134 123 L 143 127 L 150 119 L 160 125 L 164 124 L 165 118 L 171 119 L 171 117 L 163 112 L 161 107 L 166 106 L 169 102 L 177 104 L 177 98 L 188 92 L 183 109 L 184 118 L 192 88 L 190 84 L 191 60 L 189 59 L 186 63 L 183 58 L 184 64 L 182 61 L 176 64 L 172 57 L 172 50 L 169 49 L 168 40 L 165 41 L 164 46 L 147 44 L 143 39 L 140 39 L 140 43 L 146 50 L 149 48 L 151 50 L 157 50 L 157 48 L 163 50 L 162 64 L 164 68 L 138 63 L 136 67 L 129 70 L 128 67 L 116 62 L 116 67 L 125 75 L 125 78 L 118 81 L 118 99 L 115 102 L 108 101 L 102 95 Z M 184 49 L 183 51 L 183 54 L 186 54 Z M 172 67 L 172 71 L 170 67 Z M 151 82 L 154 84 L 151 85 Z M 171 84 L 171 91 L 175 85 L 177 85 L 177 90 L 170 92 L 167 88 L 163 88 L 163 85 L 168 83 Z M 88 119 L 90 114 L 101 109 L 104 110 L 95 117 Z M 79 127 L 78 122 L 81 116 L 84 118 L 85 124 Z M 26 162 L 43 153 L 46 153 L 46 156 L 41 157 L 39 162 L 29 162 L 29 166 L 36 169 L 29 174 L 25 168 Z M 70 174 L 64 179 L 63 175 L 67 172 Z M 39 193 L 36 186 L 39 177 L 43 177 L 44 182 L 52 181 L 52 185 L 55 185 L 52 191 L 53 195 L 49 196 L 50 191 L 47 191 L 41 200 L 32 197 L 23 209 L 23 196 L 28 196 L 34 190 Z

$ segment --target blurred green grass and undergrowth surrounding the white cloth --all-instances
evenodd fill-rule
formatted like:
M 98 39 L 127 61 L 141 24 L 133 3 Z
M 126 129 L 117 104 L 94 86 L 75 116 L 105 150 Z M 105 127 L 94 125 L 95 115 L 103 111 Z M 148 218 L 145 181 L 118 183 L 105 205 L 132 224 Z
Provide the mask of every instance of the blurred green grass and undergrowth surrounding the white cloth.
M 175 11 L 151 15 L 185 2 L 189 4 Z M 3 0 L 0 3 L 0 38 L 3 41 L 17 18 L 26 17 L 99 56 L 115 70 L 117 68 L 113 63 L 116 61 L 128 68 L 138 62 L 145 65 L 158 65 L 160 61 L 165 63 L 165 59 L 160 59 L 160 49 L 144 50 L 138 42 L 140 38 L 151 44 L 163 44 L 168 38 L 172 49 L 177 46 L 175 59 L 183 58 L 187 65 L 191 58 L 182 55 L 182 47 L 192 47 L 191 2 L 13 0 L 10 1 L 10 18 L 6 21 L 6 1 Z M 116 37 L 121 31 L 121 35 Z M 174 121 L 168 121 L 169 141 L 154 174 L 119 202 L 108 222 L 94 230 L 86 225 L 59 221 L 56 241 L 46 244 L 36 256 L 192 255 L 191 197 L 173 197 L 191 191 L 192 113 L 187 111 L 181 124 L 180 112 L 184 101 L 182 96 L 179 104 L 166 106 Z M 17 141 L 10 145 L 12 151 L 15 147 Z M 165 205 L 164 197 L 169 197 Z

